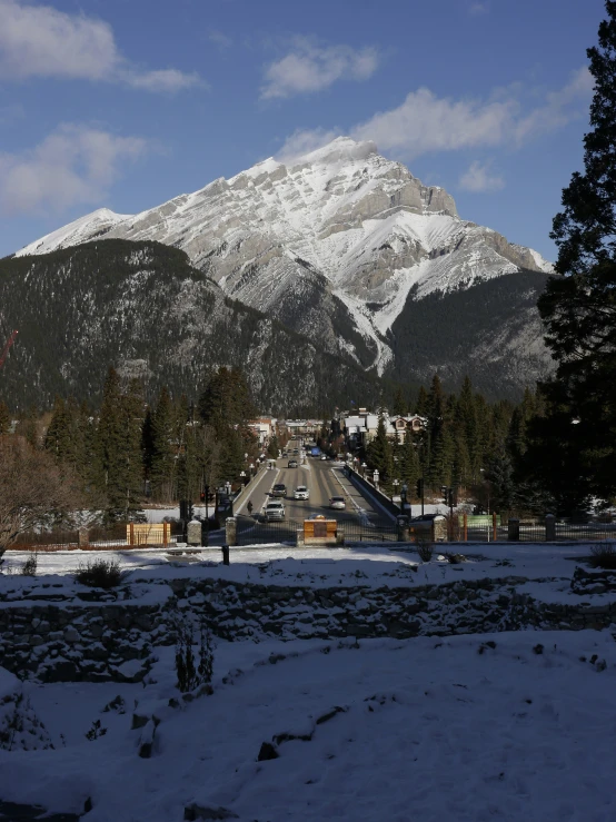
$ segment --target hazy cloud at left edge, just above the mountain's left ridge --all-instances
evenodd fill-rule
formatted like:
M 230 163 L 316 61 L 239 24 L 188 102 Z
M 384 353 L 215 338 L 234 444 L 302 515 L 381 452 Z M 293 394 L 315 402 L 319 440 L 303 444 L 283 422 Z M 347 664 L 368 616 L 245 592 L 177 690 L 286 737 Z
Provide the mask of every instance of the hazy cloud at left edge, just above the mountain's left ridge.
M 60 126 L 33 149 L 0 153 L 0 211 L 61 211 L 100 201 L 119 174 L 150 146 L 74 123 Z

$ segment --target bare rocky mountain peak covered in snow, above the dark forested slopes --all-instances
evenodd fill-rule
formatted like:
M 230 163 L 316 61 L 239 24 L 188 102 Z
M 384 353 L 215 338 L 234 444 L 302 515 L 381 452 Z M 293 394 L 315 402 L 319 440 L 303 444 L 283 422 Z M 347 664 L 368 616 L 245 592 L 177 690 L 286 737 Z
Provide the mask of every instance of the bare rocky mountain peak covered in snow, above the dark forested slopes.
M 391 328 L 409 300 L 552 271 L 536 251 L 461 219 L 443 188 L 346 137 L 139 215 L 100 209 L 18 256 L 98 237 L 183 249 L 230 296 L 380 374 L 395 368 Z

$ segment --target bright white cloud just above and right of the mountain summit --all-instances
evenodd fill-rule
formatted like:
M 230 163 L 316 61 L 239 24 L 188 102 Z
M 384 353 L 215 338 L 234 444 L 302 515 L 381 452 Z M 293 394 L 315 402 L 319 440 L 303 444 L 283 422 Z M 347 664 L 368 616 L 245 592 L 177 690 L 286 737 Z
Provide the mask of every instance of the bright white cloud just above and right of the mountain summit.
M 507 139 L 517 102 L 451 100 L 429 89 L 411 91 L 398 108 L 351 129 L 358 140 L 375 140 L 380 150 L 406 158 L 436 151 L 497 146 Z

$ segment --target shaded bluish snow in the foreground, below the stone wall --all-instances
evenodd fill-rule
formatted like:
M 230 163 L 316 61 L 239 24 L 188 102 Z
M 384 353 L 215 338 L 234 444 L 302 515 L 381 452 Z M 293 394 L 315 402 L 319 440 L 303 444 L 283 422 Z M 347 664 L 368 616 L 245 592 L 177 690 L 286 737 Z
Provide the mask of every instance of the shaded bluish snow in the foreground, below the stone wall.
M 56 747 L 0 751 L 0 798 L 57 812 L 91 798 L 89 822 L 179 822 L 193 803 L 246 822 L 616 818 L 608 632 L 221 642 L 213 695 L 178 710 L 172 653 L 145 687 L 28 684 Z M 125 713 L 103 712 L 118 695 Z M 136 702 L 161 720 L 151 759 Z M 258 762 L 279 734 L 306 739 Z

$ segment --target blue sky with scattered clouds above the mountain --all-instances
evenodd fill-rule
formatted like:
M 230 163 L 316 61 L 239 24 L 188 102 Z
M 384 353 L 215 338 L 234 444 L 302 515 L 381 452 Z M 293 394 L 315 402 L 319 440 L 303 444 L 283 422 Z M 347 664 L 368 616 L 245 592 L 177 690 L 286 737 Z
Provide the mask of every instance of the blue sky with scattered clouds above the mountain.
M 603 0 L 0 0 L 0 256 L 337 135 L 548 259 Z

